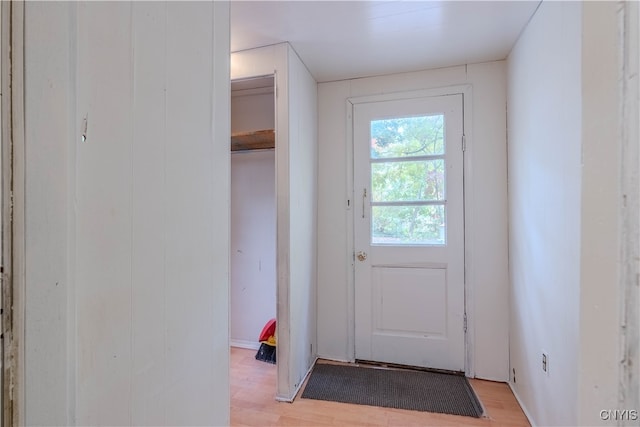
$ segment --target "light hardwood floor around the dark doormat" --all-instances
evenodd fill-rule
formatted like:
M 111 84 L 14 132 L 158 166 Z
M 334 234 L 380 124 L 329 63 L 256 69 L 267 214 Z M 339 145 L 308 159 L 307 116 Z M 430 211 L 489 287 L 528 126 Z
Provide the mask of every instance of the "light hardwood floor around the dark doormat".
M 529 426 L 504 383 L 471 380 L 485 417 L 377 408 L 296 397 L 274 400 L 276 367 L 255 360 L 255 350 L 231 348 L 232 426 Z

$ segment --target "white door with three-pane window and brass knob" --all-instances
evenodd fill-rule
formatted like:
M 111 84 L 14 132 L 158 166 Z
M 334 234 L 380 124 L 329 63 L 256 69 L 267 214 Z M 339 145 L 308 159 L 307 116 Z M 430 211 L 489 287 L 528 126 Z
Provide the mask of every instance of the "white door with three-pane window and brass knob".
M 355 355 L 464 371 L 462 95 L 354 104 Z

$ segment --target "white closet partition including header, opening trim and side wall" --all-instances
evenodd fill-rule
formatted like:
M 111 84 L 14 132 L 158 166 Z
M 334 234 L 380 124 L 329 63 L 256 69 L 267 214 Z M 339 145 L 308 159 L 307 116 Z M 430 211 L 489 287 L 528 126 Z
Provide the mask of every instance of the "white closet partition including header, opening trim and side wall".
M 276 398 L 292 400 L 315 354 L 316 83 L 287 43 L 231 55 L 232 79 L 272 74 L 277 87 Z

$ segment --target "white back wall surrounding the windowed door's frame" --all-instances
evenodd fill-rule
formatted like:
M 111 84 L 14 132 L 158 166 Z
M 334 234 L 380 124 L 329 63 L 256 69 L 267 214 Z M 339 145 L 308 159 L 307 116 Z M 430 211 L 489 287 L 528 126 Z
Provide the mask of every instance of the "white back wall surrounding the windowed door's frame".
M 468 371 L 508 378 L 506 76 L 504 62 L 321 83 L 319 91 L 318 355 L 353 358 L 353 286 L 347 199 L 346 100 L 461 84 L 471 85 L 465 112 Z M 351 303 L 352 304 L 352 303 Z

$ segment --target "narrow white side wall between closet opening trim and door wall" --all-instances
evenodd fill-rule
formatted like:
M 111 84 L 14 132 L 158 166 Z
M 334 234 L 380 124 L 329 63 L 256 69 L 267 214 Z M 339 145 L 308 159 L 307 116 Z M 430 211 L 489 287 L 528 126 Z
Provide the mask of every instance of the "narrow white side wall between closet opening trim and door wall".
M 291 46 L 287 47 L 291 209 L 289 384 L 292 390 L 297 390 L 315 360 L 316 347 L 318 96 L 316 81 Z

